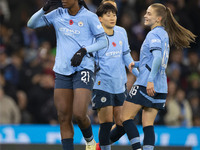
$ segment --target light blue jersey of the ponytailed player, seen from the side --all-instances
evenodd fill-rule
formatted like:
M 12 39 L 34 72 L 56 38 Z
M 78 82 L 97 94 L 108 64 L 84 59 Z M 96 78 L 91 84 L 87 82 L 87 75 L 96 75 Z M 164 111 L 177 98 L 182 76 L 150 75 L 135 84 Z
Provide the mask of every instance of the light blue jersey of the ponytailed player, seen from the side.
M 167 68 L 170 48 L 168 34 L 161 26 L 151 30 L 142 44 L 139 62 L 140 72 L 134 85 L 147 86 L 154 59 L 152 51 L 154 50 L 159 50 L 162 54 L 162 63 L 153 79 L 154 90 L 158 93 L 167 93 L 167 76 L 165 70 Z

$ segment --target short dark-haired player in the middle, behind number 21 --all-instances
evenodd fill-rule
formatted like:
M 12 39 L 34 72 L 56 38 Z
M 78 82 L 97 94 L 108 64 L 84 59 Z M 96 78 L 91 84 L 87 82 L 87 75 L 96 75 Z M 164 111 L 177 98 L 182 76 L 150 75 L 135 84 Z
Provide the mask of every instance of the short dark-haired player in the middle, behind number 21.
M 101 150 L 110 150 L 109 135 L 113 116 L 115 123 L 122 126 L 119 116 L 126 97 L 125 66 L 132 72 L 134 61 L 130 55 L 127 37 L 114 29 L 117 9 L 107 3 L 100 5 L 96 13 L 107 34 L 109 46 L 96 52 L 96 61 L 100 70 L 96 73 L 92 105 L 93 109 L 98 111 Z M 134 68 L 133 71 L 137 76 L 138 70 Z

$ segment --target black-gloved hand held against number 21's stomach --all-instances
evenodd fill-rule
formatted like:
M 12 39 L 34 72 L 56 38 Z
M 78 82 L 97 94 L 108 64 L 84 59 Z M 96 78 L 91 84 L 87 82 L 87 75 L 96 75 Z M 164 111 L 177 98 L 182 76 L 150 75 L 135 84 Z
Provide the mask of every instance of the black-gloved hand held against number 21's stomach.
M 87 50 L 85 48 L 79 49 L 71 59 L 71 65 L 73 67 L 77 67 L 81 64 L 83 57 L 87 54 Z

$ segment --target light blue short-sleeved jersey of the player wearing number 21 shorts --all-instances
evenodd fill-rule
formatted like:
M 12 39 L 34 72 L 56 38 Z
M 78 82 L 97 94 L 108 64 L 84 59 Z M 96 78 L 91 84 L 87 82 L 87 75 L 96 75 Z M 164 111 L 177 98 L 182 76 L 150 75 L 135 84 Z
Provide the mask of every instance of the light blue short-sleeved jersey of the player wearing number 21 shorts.
M 67 9 L 58 8 L 43 16 L 47 25 L 53 24 L 57 29 L 57 49 L 53 70 L 63 75 L 73 74 L 75 71 L 89 69 L 94 71 L 94 58 L 88 54 L 78 67 L 71 66 L 71 58 L 81 48 L 93 44 L 94 38 L 103 36 L 104 30 L 96 14 L 81 7 L 72 16 Z

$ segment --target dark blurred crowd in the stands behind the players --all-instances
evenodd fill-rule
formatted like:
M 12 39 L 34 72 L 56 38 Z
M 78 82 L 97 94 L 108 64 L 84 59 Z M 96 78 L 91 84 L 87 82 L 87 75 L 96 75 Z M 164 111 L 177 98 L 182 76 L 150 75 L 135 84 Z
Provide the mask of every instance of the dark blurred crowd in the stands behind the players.
M 101 0 L 85 0 L 93 12 Z M 200 126 L 200 0 L 116 0 L 117 24 L 127 31 L 131 54 L 139 60 L 140 46 L 149 31 L 143 26 L 146 8 L 154 2 L 170 7 L 177 21 L 197 35 L 191 48 L 171 48 L 166 109 L 157 125 Z M 45 0 L 0 0 L 0 124 L 58 124 L 53 101 L 55 32 L 32 30 L 26 23 Z M 130 90 L 135 77 L 128 73 Z M 88 108 L 93 124 L 97 114 Z M 141 116 L 135 118 L 141 124 Z

